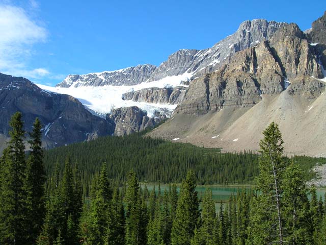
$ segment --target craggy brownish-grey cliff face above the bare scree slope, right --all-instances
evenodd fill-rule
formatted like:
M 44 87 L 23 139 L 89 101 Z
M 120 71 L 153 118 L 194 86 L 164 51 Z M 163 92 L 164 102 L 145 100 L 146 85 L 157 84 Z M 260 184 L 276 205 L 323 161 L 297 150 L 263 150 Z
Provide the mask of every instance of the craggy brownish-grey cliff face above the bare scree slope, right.
M 288 24 L 269 40 L 237 52 L 221 69 L 192 81 L 176 113 L 251 107 L 261 100 L 261 94 L 285 89 L 315 99 L 324 89 L 318 80 L 322 77 L 313 47 L 296 24 Z

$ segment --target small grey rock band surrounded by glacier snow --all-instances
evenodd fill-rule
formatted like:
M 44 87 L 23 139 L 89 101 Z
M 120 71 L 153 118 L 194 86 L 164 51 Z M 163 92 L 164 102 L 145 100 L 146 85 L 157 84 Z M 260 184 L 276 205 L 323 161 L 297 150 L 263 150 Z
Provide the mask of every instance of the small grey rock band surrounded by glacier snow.
M 124 93 L 123 100 L 136 102 L 146 102 L 152 104 L 180 104 L 183 100 L 186 87 L 178 86 L 175 88 L 144 88 L 137 91 Z

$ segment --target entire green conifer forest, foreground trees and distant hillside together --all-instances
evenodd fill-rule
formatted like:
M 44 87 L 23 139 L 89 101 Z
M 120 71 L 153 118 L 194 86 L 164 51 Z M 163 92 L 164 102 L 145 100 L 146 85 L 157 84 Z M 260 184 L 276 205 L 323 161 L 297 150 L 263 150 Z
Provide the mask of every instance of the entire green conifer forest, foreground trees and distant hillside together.
M 142 134 L 43 151 L 36 119 L 26 154 L 21 117 L 10 121 L 0 160 L 0 244 L 326 244 L 326 203 L 306 185 L 325 160 L 284 157 L 274 123 L 257 155 Z M 170 187 L 149 191 L 139 181 Z M 226 183 L 254 185 L 220 210 L 210 189 L 201 199 L 195 190 Z

